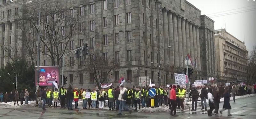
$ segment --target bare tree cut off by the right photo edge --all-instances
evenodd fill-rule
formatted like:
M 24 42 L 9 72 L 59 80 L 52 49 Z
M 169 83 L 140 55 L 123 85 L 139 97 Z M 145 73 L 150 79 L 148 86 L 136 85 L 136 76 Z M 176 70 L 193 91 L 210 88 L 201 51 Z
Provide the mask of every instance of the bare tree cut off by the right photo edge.
M 247 71 L 247 83 L 255 84 L 256 83 L 256 46 L 253 47 L 253 50 L 251 51 L 248 57 L 246 71 Z

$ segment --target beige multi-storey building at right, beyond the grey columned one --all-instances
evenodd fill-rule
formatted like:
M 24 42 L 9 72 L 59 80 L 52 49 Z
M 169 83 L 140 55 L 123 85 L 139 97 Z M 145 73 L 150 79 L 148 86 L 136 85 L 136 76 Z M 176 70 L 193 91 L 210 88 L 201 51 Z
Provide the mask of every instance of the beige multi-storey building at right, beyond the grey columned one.
M 215 46 L 218 78 L 223 82 L 245 81 L 248 51 L 244 42 L 220 29 L 215 30 Z

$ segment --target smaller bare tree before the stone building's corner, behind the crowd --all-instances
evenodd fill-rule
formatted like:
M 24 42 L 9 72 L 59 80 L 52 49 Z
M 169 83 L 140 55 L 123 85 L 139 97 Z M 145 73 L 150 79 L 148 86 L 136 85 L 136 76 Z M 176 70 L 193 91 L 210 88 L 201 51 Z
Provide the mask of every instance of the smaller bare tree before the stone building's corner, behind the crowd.
M 119 67 L 119 62 L 105 59 L 103 56 L 97 54 L 91 54 L 89 56 L 89 62 L 86 62 L 84 66 L 86 70 L 89 70 L 93 74 L 93 80 L 100 87 L 100 83 L 109 82 L 108 75 Z

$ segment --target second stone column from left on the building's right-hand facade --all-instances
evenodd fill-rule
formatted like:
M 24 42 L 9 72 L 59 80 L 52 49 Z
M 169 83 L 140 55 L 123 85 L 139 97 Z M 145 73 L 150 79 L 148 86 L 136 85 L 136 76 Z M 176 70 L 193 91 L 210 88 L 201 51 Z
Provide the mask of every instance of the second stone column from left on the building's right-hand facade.
M 170 55 L 170 65 L 174 66 L 174 42 L 173 42 L 173 25 L 172 25 L 172 13 L 168 13 L 168 30 L 169 30 L 169 46 L 172 48 L 169 48 L 169 55 Z

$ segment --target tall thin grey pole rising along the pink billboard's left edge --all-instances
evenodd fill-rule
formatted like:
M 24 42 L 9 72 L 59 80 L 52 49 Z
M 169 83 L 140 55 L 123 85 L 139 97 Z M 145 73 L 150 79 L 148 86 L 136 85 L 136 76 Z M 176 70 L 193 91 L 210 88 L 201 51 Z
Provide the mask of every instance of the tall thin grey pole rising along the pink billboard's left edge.
M 40 73 L 40 33 L 41 33 L 41 25 L 40 25 L 40 22 L 41 22 L 41 0 L 39 1 L 39 18 L 38 18 L 38 34 L 37 34 L 37 79 L 36 79 L 36 82 L 38 83 L 38 86 L 36 87 L 39 87 L 39 73 Z M 36 84 L 37 85 L 37 84 Z

